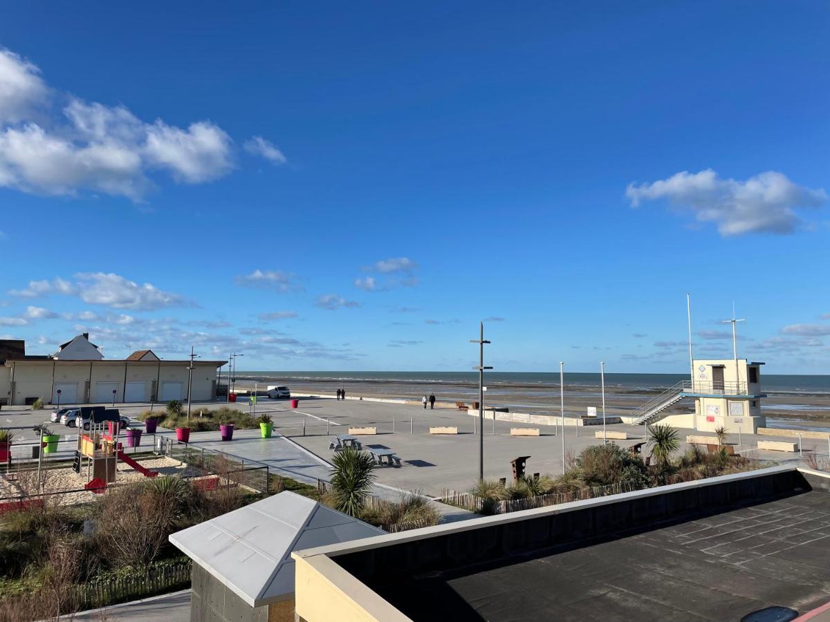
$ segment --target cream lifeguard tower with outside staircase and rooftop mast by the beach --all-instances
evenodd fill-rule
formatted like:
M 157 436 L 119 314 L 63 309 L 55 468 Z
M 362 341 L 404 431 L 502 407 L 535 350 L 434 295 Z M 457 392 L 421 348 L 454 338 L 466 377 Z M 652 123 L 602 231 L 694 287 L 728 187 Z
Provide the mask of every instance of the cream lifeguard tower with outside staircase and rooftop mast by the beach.
M 766 426 L 761 414 L 762 362 L 749 362 L 738 358 L 738 342 L 735 324 L 743 320 L 733 317 L 731 359 L 700 359 L 691 356 L 691 379 L 678 382 L 660 395 L 647 401 L 634 421 L 638 424 L 666 423 L 680 428 L 693 428 L 714 432 L 723 427 L 727 433 L 748 432 L 755 434 Z M 691 334 L 691 333 L 690 333 Z M 666 409 L 685 398 L 694 398 L 695 411 L 668 414 Z

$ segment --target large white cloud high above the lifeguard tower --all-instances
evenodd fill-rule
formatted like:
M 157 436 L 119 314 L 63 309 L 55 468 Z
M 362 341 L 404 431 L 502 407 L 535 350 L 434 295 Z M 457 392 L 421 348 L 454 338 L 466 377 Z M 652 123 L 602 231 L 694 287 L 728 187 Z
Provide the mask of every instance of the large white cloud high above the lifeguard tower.
M 683 171 L 639 186 L 631 183 L 626 196 L 633 207 L 660 199 L 686 207 L 698 221 L 714 222 L 722 236 L 792 233 L 802 223 L 793 208 L 818 207 L 828 198 L 823 189 L 798 186 L 774 171 L 740 181 L 722 179 L 711 169 Z

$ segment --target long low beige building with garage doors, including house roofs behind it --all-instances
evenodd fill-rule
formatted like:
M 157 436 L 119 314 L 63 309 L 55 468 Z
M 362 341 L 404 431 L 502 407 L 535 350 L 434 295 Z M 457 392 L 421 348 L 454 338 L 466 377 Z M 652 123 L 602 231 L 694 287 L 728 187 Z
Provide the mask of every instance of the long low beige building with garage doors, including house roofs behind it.
M 193 362 L 191 399 L 212 400 L 224 361 Z M 151 350 L 103 357 L 88 333 L 50 356 L 27 356 L 22 340 L 0 340 L 0 404 L 101 404 L 186 400 L 190 362 L 162 360 Z

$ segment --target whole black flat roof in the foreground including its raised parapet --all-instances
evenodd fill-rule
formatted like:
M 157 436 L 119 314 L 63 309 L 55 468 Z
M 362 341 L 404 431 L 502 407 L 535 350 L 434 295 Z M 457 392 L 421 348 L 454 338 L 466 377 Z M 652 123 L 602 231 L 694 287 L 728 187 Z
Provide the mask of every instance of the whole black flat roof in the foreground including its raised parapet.
M 411 620 L 740 620 L 827 603 L 828 475 L 713 480 L 319 552 Z

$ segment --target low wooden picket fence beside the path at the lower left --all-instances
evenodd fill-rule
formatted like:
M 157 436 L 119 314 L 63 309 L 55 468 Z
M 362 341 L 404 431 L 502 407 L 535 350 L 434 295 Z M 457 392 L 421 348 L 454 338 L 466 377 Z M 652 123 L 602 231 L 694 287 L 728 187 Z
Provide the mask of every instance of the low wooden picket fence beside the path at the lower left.
M 88 581 L 75 587 L 73 600 L 81 609 L 91 609 L 184 589 L 190 586 L 190 568 L 190 561 L 182 561 L 133 576 Z

